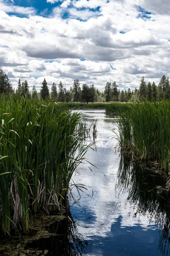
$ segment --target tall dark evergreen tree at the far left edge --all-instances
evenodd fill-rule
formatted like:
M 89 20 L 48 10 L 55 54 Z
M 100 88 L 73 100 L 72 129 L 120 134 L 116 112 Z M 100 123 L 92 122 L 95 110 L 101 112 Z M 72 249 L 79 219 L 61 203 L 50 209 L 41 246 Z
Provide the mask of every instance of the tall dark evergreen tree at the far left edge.
M 14 93 L 8 76 L 0 69 L 0 94 L 8 95 Z

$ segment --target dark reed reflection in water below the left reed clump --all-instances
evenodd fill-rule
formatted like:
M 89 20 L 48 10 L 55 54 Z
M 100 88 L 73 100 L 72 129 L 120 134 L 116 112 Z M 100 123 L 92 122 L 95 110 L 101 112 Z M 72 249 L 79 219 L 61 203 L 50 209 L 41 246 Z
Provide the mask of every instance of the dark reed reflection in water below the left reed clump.
M 56 221 L 46 227 L 49 233 L 57 234 L 45 239 L 34 240 L 28 243 L 25 250 L 28 248 L 48 250 L 47 256 L 82 256 L 88 243 L 77 231 L 76 224 L 69 213 L 69 218 L 63 221 Z

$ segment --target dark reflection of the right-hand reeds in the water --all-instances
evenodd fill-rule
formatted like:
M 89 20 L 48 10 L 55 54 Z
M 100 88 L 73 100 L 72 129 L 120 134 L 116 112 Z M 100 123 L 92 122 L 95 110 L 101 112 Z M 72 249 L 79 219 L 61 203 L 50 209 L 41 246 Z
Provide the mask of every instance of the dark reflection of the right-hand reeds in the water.
M 137 209 L 136 214 L 147 213 L 150 221 L 155 219 L 160 235 L 158 250 L 163 256 L 170 255 L 170 192 L 164 189 L 166 183 L 166 173 L 154 165 L 122 156 L 116 191 L 128 192 L 127 201 Z

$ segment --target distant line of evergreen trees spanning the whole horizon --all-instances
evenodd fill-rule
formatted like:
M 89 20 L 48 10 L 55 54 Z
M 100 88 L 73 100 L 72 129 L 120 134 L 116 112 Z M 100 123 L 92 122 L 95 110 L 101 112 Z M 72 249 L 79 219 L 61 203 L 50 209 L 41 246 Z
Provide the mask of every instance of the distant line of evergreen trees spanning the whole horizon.
M 14 94 L 15 90 L 11 85 L 8 76 L 0 69 L 0 94 L 8 95 Z M 94 84 L 82 84 L 78 79 L 75 79 L 73 86 L 69 90 L 66 90 L 62 81 L 59 82 L 58 86 L 53 82 L 51 85 L 51 90 L 49 90 L 48 82 L 44 79 L 42 81 L 42 86 L 40 92 L 37 92 L 35 85 L 32 89 L 29 89 L 28 81 L 22 81 L 19 79 L 17 85 L 17 95 L 28 97 L 28 99 L 52 99 L 58 102 L 129 102 L 137 101 L 142 99 L 148 99 L 159 101 L 161 99 L 170 98 L 170 81 L 166 76 L 162 76 L 158 85 L 151 82 L 148 84 L 144 81 L 142 77 L 140 82 L 139 89 L 135 88 L 134 90 L 119 90 L 119 86 L 116 84 L 116 81 L 107 82 L 105 85 L 104 92 L 96 89 Z

